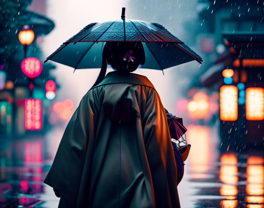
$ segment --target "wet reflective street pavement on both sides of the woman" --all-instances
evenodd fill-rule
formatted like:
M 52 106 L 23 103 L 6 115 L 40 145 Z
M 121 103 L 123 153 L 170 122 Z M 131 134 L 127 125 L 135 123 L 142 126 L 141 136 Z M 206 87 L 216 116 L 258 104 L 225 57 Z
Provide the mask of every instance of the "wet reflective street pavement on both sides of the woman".
M 264 208 L 264 157 L 219 151 L 217 127 L 187 126 L 192 145 L 178 186 L 183 208 Z M 0 139 L 0 207 L 57 207 L 57 198 L 43 183 L 63 130 L 44 137 Z

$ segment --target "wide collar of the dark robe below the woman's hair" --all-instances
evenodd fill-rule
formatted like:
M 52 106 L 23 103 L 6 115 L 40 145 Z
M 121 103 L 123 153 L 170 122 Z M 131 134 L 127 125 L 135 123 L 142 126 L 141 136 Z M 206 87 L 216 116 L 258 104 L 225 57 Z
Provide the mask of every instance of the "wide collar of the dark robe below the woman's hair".
M 102 82 L 92 87 L 91 89 L 102 85 L 110 85 L 115 83 L 129 83 L 134 85 L 143 85 L 143 86 L 151 87 L 155 90 L 154 86 L 146 76 L 135 73 L 123 74 L 118 71 L 110 71 L 108 74 L 106 74 Z

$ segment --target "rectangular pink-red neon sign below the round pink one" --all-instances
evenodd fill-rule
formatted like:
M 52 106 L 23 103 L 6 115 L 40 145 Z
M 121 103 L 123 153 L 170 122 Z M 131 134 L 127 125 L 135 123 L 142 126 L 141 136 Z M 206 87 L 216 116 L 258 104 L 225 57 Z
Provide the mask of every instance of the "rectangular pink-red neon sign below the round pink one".
M 25 100 L 25 129 L 40 130 L 41 129 L 41 100 L 26 99 Z

